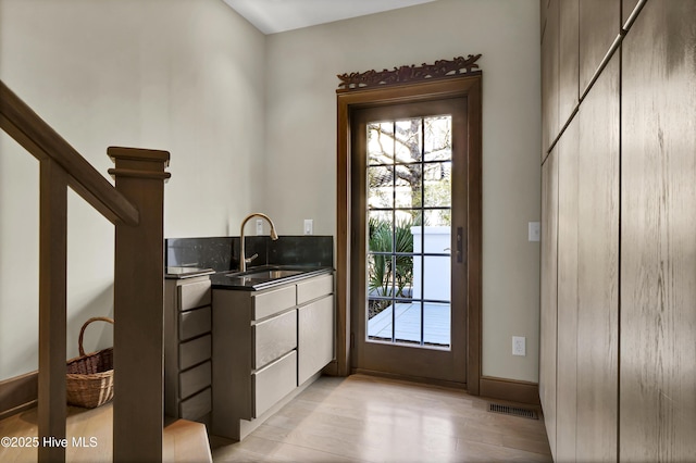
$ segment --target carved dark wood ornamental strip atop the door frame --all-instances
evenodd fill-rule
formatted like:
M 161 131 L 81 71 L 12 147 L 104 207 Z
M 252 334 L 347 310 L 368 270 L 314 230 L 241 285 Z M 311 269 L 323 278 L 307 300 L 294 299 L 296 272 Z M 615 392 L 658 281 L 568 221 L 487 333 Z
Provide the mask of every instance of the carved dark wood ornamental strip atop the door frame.
M 477 74 L 481 71 L 476 61 L 481 54 L 470 54 L 458 57 L 453 60 L 438 60 L 434 64 L 423 63 L 421 66 L 411 64 L 410 66 L 395 67 L 393 71 L 366 71 L 364 73 L 346 73 L 338 74 L 340 79 L 337 91 L 357 90 L 368 87 L 376 87 L 384 85 L 396 85 L 413 83 L 427 79 L 442 79 L 453 77 L 462 74 Z

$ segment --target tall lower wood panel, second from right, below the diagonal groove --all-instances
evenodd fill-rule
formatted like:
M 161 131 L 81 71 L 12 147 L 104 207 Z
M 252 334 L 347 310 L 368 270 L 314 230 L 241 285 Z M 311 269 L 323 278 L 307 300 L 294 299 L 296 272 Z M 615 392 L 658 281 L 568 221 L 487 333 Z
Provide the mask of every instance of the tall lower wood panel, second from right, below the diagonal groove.
M 577 458 L 617 456 L 619 54 L 580 109 Z

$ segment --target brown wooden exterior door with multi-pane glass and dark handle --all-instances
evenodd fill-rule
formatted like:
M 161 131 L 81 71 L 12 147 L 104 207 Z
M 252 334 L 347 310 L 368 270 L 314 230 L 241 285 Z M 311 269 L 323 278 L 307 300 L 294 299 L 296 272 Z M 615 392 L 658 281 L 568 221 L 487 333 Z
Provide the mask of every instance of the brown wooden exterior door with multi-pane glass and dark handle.
M 467 225 L 467 108 L 452 98 L 351 115 L 356 372 L 465 384 L 467 264 L 452 230 Z

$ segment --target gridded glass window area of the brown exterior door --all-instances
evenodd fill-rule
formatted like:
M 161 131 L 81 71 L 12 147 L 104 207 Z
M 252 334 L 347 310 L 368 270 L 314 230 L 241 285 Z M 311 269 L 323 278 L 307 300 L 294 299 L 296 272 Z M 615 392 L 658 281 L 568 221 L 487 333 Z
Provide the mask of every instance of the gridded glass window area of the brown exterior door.
M 450 346 L 451 116 L 368 124 L 368 340 Z

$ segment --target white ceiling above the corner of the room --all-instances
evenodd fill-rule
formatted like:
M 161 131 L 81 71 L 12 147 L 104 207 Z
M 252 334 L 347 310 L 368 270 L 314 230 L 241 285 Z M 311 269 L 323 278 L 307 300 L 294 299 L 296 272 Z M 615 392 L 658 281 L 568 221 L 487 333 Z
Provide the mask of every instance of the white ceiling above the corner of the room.
M 263 34 L 299 29 L 435 0 L 224 0 Z

